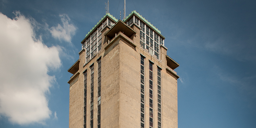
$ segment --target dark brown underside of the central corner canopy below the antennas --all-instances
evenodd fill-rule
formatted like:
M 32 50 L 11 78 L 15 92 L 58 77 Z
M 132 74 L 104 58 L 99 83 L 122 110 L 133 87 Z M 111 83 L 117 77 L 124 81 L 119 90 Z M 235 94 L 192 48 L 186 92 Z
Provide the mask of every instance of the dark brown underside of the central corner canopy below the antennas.
M 108 36 L 110 39 L 116 36 L 117 33 L 122 32 L 127 37 L 131 37 L 133 34 L 136 34 L 132 28 L 127 26 L 122 20 L 118 20 L 116 24 L 106 32 L 105 36 Z

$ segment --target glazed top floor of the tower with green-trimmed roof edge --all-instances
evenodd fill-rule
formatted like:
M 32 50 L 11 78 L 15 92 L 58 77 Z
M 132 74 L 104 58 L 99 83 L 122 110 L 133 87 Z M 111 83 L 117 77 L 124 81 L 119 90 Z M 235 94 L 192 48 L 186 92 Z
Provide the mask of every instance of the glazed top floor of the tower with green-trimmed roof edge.
M 82 49 L 85 49 L 85 60 L 89 62 L 102 48 L 104 41 L 103 30 L 111 29 L 118 20 L 107 13 L 89 32 L 85 38 L 81 41 Z M 153 26 L 148 20 L 143 18 L 139 13 L 133 11 L 129 14 L 123 22 L 131 27 L 136 25 L 140 28 L 140 48 L 147 51 L 149 54 L 160 59 L 160 45 L 164 45 L 164 36 L 161 32 Z

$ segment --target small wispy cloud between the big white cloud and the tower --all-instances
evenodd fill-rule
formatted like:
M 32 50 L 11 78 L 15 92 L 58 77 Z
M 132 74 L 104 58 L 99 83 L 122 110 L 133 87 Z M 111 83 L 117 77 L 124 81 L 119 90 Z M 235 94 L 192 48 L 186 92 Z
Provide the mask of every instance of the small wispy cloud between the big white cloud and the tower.
M 77 28 L 69 23 L 70 19 L 67 14 L 60 15 L 60 18 L 62 26 L 58 24 L 58 26 L 50 28 L 52 37 L 71 43 L 71 38 L 75 35 Z

